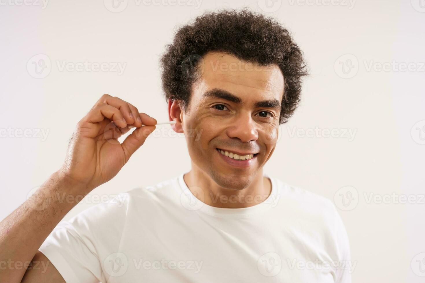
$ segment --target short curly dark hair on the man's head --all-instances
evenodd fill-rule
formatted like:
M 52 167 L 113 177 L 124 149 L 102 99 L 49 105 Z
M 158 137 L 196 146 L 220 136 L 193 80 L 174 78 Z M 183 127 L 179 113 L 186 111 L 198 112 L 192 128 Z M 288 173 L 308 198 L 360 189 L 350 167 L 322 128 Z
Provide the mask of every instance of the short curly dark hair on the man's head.
M 301 79 L 307 71 L 303 52 L 287 29 L 248 8 L 206 12 L 195 18 L 178 29 L 173 43 L 166 45 L 161 56 L 162 88 L 167 101 L 179 100 L 187 111 L 192 84 L 198 78 L 196 66 L 209 51 L 232 54 L 261 66 L 278 65 L 285 83 L 279 124 L 288 121 L 300 101 Z

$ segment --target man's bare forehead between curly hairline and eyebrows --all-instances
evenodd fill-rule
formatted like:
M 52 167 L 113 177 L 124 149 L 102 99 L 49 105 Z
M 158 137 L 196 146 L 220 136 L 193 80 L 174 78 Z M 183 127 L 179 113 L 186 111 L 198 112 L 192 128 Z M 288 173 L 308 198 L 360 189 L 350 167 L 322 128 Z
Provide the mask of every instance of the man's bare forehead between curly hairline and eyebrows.
M 220 88 L 242 99 L 275 98 L 280 101 L 282 98 L 284 79 L 277 65 L 260 66 L 226 53 L 210 52 L 203 56 L 199 70 L 201 76 L 196 85 L 201 93 L 198 95 Z

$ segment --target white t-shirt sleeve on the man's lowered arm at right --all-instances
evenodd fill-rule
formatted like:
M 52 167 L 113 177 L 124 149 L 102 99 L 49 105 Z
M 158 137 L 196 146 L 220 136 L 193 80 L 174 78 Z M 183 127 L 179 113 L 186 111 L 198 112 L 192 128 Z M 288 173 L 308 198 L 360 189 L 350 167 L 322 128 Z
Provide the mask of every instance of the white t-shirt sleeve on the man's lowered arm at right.
M 336 267 L 335 283 L 351 283 L 351 273 L 355 263 L 351 261 L 350 243 L 348 234 L 337 209 L 334 207 L 334 231 L 338 249 L 338 266 Z

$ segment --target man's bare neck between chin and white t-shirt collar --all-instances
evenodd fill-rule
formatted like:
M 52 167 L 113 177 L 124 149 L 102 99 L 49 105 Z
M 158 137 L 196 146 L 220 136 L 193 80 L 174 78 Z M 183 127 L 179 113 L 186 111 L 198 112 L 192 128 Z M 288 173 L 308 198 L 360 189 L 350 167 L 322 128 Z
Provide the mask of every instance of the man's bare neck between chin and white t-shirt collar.
M 267 199 L 272 189 L 270 179 L 263 176 L 263 168 L 257 172 L 252 182 L 241 190 L 218 185 L 194 164 L 192 169 L 184 174 L 183 179 L 198 199 L 213 207 L 243 208 L 258 205 Z

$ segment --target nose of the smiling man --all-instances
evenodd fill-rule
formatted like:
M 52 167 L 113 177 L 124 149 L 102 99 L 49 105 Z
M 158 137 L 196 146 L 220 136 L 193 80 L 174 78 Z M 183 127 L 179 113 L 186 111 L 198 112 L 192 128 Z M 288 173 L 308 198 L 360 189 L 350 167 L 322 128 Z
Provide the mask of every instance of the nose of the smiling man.
M 229 137 L 237 137 L 244 143 L 258 140 L 255 121 L 248 113 L 240 113 L 230 123 L 232 124 L 227 127 L 226 131 Z

